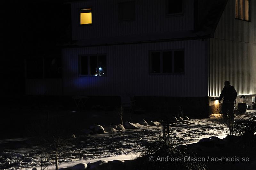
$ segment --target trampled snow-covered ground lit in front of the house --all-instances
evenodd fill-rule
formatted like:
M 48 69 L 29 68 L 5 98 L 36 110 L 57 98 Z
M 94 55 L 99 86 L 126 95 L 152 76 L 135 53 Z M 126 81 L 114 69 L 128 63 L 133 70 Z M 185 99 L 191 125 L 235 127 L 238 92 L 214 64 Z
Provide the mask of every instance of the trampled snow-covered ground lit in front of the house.
M 225 125 L 211 119 L 190 119 L 170 124 L 171 140 L 174 143 L 195 143 L 210 136 L 226 137 L 229 134 Z M 162 139 L 162 127 L 143 126 L 125 129 L 113 134 L 86 135 L 67 151 L 59 154 L 59 167 L 97 160 L 130 160 L 137 158 L 145 150 L 145 144 Z M 47 147 L 31 146 L 30 139 L 9 139 L 0 141 L 0 169 L 32 169 L 46 161 Z M 10 144 L 12 143 L 12 147 Z M 15 146 L 15 147 L 13 147 Z M 137 154 L 136 154 L 137 153 Z M 54 168 L 53 159 L 49 168 Z

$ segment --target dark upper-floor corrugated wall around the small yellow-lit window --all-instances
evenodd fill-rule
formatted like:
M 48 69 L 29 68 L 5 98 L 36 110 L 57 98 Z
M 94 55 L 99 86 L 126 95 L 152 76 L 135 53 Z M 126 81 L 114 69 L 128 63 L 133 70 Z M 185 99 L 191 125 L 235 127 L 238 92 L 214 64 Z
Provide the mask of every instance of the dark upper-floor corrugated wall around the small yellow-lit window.
M 135 20 L 119 22 L 118 3 L 124 1 L 127 0 L 86 0 L 71 4 L 73 40 L 194 29 L 194 1 L 184 0 L 184 15 L 167 17 L 165 0 L 135 0 Z M 92 25 L 80 25 L 79 9 L 87 7 L 92 7 Z

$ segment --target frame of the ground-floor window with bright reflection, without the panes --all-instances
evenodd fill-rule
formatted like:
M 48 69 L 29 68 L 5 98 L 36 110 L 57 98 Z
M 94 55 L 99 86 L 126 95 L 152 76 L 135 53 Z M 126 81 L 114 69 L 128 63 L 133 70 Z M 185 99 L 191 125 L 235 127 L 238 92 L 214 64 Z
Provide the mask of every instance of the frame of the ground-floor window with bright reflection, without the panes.
M 97 57 L 97 73 L 99 72 L 99 60 L 98 56 L 106 56 L 106 67 L 108 68 L 108 61 L 107 61 L 107 54 L 102 53 L 102 54 L 79 54 L 78 55 L 78 75 L 79 77 L 99 77 L 99 76 L 107 76 L 107 74 L 102 74 L 102 75 L 91 75 L 91 63 L 90 63 L 90 57 L 91 56 L 96 56 Z M 87 74 L 81 74 L 81 57 L 87 57 Z

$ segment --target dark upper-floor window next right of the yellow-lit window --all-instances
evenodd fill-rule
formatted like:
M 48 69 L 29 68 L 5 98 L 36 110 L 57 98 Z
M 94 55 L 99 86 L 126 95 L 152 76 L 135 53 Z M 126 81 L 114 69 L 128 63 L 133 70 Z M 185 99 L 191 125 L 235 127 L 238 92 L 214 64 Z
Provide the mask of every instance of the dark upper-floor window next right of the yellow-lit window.
M 119 21 L 130 21 L 135 19 L 135 2 L 123 2 L 118 4 Z

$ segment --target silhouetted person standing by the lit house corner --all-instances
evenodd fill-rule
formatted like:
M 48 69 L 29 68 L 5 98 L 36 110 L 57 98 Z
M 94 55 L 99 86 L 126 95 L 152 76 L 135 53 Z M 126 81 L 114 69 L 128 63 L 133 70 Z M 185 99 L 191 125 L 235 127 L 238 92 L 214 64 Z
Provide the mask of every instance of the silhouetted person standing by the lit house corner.
M 223 104 L 221 107 L 221 113 L 223 115 L 224 121 L 227 121 L 227 113 L 230 116 L 231 120 L 234 120 L 235 115 L 235 103 L 236 103 L 236 89 L 234 89 L 234 86 L 230 85 L 229 81 L 225 81 L 225 86 L 221 91 L 220 98 L 219 98 L 219 103 L 221 99 L 223 99 Z

